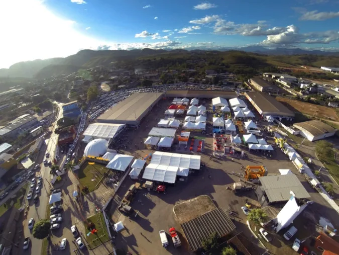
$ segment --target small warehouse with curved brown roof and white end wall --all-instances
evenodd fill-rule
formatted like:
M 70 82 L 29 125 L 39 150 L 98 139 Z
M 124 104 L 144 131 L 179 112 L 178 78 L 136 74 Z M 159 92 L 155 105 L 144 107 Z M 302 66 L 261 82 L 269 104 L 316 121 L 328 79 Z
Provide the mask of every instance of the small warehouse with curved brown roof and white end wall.
M 333 136 L 336 129 L 318 120 L 310 120 L 293 124 L 294 127 L 300 130 L 300 135 L 306 137 L 309 141 L 316 141 L 326 137 Z

